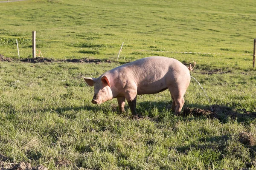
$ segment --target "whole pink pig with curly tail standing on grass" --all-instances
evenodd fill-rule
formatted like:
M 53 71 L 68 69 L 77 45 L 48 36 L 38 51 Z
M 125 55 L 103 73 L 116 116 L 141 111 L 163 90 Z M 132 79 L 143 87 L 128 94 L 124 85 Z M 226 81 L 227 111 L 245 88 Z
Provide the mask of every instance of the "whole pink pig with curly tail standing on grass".
M 126 99 L 132 115 L 137 115 L 137 95 L 169 89 L 172 111 L 180 115 L 185 102 L 183 96 L 190 83 L 189 71 L 194 67 L 195 62 L 186 67 L 177 59 L 153 56 L 113 68 L 98 78 L 82 77 L 89 86 L 94 86 L 93 104 L 116 98 L 119 112 L 123 113 Z

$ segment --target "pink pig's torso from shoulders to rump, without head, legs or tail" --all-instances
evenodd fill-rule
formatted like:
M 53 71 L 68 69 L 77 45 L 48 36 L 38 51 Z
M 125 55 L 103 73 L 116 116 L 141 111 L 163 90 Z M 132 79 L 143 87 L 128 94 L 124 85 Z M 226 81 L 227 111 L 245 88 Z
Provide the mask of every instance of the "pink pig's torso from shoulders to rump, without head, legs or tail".
M 111 72 L 115 74 L 115 82 L 123 83 L 125 80 L 136 84 L 137 94 L 155 94 L 169 87 L 182 86 L 182 82 L 187 79 L 190 82 L 189 69 L 178 60 L 168 57 L 138 59 L 114 68 Z

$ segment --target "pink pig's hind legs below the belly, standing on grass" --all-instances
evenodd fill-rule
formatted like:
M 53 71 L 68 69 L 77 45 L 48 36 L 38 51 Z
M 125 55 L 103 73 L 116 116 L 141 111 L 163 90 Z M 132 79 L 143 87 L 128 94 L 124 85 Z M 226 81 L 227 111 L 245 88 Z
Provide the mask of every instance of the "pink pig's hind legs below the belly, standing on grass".
M 176 105 L 175 115 L 180 115 L 181 109 L 185 103 L 183 96 L 184 96 L 186 90 L 179 89 L 179 88 L 169 88 L 169 91 L 170 91 L 172 99 L 173 99 L 172 109 L 174 109 L 175 105 Z

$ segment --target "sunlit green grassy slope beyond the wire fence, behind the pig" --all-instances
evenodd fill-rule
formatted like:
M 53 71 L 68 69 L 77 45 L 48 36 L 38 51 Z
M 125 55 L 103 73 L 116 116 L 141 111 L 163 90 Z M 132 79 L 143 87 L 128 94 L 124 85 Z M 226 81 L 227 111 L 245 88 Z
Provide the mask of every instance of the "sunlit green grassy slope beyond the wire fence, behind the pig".
M 0 35 L 29 38 L 36 30 L 38 39 L 67 41 L 38 40 L 38 49 L 44 57 L 51 58 L 114 59 L 122 42 L 132 44 L 122 50 L 121 59 L 128 61 L 152 55 L 141 50 L 252 54 L 256 22 L 253 5 L 252 0 L 243 3 L 153 0 L 4 3 L 0 21 L 5 24 L 0 26 Z M 30 40 L 21 44 L 21 57 L 31 55 L 30 45 Z M 5 46 L 0 49 L 7 57 L 17 57 L 14 45 L 12 50 Z M 183 54 L 159 54 L 183 57 Z M 244 62 L 240 60 L 248 58 L 235 57 L 241 65 Z M 205 57 L 189 58 L 207 62 Z M 222 63 L 234 65 L 230 58 L 234 57 L 219 57 Z

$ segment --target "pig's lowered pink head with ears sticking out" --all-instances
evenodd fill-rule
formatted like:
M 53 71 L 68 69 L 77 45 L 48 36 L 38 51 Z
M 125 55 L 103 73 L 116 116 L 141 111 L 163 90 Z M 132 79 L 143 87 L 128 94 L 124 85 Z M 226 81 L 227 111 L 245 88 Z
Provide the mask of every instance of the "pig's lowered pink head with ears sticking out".
M 111 85 L 109 79 L 106 76 L 100 76 L 96 79 L 91 77 L 83 78 L 88 85 L 94 86 L 94 96 L 92 100 L 93 104 L 101 104 L 113 98 L 113 94 L 110 88 Z

